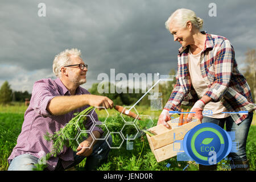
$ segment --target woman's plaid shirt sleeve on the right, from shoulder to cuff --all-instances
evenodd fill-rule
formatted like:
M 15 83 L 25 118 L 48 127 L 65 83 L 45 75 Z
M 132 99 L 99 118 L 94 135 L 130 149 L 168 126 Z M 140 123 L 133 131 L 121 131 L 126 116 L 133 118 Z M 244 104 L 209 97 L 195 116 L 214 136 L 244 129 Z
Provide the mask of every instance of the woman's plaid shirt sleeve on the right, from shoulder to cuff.
M 213 102 L 221 100 L 228 89 L 234 64 L 234 49 L 229 40 L 224 40 L 216 54 L 214 61 L 215 80 L 205 96 L 212 98 Z

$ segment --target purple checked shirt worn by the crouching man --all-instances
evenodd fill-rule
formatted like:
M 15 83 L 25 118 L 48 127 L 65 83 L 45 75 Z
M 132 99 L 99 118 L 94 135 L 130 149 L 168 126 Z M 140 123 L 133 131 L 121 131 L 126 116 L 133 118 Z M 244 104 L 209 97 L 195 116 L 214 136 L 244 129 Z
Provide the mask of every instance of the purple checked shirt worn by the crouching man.
M 90 93 L 79 86 L 75 94 L 81 95 Z M 55 116 L 48 113 L 46 107 L 53 97 L 70 95 L 69 90 L 61 82 L 60 78 L 56 78 L 56 80 L 47 78 L 35 82 L 32 89 L 30 105 L 24 114 L 22 131 L 19 134 L 13 152 L 8 158 L 9 163 L 11 159 L 14 159 L 18 155 L 31 154 L 36 158 L 41 158 L 42 154 L 51 152 L 52 142 L 47 142 L 47 140 L 44 139 L 44 135 L 46 135 L 47 132 L 53 134 L 59 131 L 66 123 L 75 117 L 75 115 L 73 115 L 74 113 L 79 113 L 89 107 L 89 105 L 87 105 L 64 115 Z M 95 111 L 93 111 L 92 117 L 96 122 L 100 122 L 98 121 L 98 116 Z M 93 127 L 93 123 L 90 117 L 86 119 L 86 127 L 88 127 L 89 130 L 92 129 L 92 131 L 99 131 L 102 135 L 102 129 Z M 64 168 L 71 165 L 74 160 L 72 149 L 64 146 L 63 151 L 61 151 L 56 158 L 51 157 L 47 161 L 49 170 L 55 169 L 59 158 L 62 159 L 61 163 Z

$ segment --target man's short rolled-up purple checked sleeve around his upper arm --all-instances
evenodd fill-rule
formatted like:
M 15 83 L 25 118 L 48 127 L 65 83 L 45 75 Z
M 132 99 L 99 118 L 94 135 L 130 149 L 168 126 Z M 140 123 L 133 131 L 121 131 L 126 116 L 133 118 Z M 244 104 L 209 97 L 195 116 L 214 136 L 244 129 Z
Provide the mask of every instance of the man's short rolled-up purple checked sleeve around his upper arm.
M 31 107 L 42 117 L 51 117 L 47 111 L 47 105 L 56 96 L 55 88 L 49 85 L 46 80 L 35 82 L 31 94 Z

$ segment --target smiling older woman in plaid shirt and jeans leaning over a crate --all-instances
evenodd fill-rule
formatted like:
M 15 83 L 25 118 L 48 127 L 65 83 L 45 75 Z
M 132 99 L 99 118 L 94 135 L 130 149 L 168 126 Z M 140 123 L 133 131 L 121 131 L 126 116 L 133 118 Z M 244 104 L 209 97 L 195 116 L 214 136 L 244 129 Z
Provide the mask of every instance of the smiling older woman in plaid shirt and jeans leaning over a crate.
M 226 131 L 234 131 L 238 144 L 237 152 L 230 152 L 233 166 L 242 164 L 249 169 L 246 158 L 246 139 L 253 119 L 253 104 L 249 85 L 237 69 L 234 49 L 228 39 L 201 31 L 203 20 L 192 10 L 178 9 L 166 22 L 166 28 L 174 35 L 174 41 L 181 44 L 177 55 L 176 84 L 170 99 L 164 106 L 158 124 L 170 120 L 168 111 L 181 111 L 180 105 L 193 106 L 193 116 L 201 122 L 211 122 Z M 203 110 L 212 115 L 203 116 Z M 226 112 L 248 111 L 248 114 L 227 114 Z M 217 165 L 199 165 L 200 170 L 216 169 Z

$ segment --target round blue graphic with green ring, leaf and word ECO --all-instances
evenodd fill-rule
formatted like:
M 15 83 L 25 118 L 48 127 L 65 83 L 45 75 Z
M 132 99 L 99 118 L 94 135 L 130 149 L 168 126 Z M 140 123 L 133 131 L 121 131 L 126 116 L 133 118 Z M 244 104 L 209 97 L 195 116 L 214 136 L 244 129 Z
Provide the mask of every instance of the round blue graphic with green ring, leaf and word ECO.
M 186 154 L 205 166 L 225 158 L 232 148 L 230 135 L 214 123 L 201 123 L 188 131 L 183 139 Z

